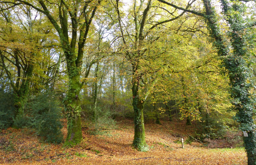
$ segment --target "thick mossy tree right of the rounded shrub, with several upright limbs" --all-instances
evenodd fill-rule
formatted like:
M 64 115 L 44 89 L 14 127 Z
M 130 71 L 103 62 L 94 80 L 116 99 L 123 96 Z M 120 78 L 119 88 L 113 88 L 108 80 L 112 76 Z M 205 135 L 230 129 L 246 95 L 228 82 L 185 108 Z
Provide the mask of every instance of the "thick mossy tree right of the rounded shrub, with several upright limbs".
M 58 0 L 46 2 L 38 0 L 36 2 L 30 2 L 26 0 L 15 0 L 0 2 L 1 4 L 8 3 L 13 6 L 23 4 L 36 9 L 38 12 L 47 16 L 57 31 L 60 42 L 59 47 L 62 47 L 62 51 L 64 52 L 69 77 L 68 94 L 66 95 L 66 101 L 64 101 L 66 118 L 68 120 L 66 145 L 77 144 L 82 139 L 81 106 L 78 97 L 83 85 L 80 77 L 81 66 L 89 28 L 101 1 Z M 49 7 L 52 9 L 50 10 Z

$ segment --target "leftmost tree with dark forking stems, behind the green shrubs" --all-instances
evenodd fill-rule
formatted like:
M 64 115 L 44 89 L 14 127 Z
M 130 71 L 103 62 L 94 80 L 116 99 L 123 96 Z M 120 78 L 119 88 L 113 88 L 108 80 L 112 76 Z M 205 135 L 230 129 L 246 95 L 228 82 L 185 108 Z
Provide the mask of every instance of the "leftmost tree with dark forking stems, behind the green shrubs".
M 8 5 L 1 9 L 3 7 Z M 36 61 L 43 53 L 43 46 L 51 29 L 47 27 L 47 23 L 43 23 L 43 17 L 38 12 L 33 14 L 29 6 L 15 7 L 12 16 L 10 10 L 1 11 L 1 21 L 5 26 L 0 31 L 0 65 L 14 92 L 14 118 L 17 118 L 23 115 Z

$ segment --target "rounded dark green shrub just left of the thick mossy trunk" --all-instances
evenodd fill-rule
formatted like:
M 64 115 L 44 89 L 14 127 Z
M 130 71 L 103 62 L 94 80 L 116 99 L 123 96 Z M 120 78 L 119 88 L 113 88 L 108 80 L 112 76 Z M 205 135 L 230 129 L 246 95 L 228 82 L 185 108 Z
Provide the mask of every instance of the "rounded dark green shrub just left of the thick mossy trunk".
M 45 141 L 61 143 L 63 140 L 61 110 L 57 97 L 50 92 L 32 96 L 25 106 L 28 126 L 34 128 L 36 134 Z

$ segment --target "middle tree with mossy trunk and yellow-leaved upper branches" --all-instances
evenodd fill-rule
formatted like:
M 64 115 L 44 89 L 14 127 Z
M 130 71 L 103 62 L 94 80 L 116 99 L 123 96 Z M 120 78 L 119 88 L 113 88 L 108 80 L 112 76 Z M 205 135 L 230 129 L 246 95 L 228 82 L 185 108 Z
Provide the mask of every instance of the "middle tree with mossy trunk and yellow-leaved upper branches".
M 114 4 L 114 2 L 112 3 Z M 132 29 L 129 31 L 128 28 L 124 27 L 126 25 L 124 25 L 121 19 L 121 13 L 119 11 L 119 0 L 116 0 L 115 3 L 116 12 L 119 17 L 118 21 L 121 40 L 123 42 L 121 49 L 123 50 L 126 59 L 130 62 L 132 69 L 131 83 L 135 123 L 133 145 L 139 150 L 142 150 L 142 148 L 146 146 L 143 117 L 145 99 L 150 94 L 150 91 L 154 87 L 155 83 L 158 81 L 158 75 L 161 75 L 157 74 L 157 76 L 153 76 L 153 79 L 150 79 L 148 76 L 146 76 L 146 74 L 149 75 L 156 73 L 157 71 L 161 70 L 161 67 L 163 67 L 159 67 L 160 65 L 158 65 L 154 68 L 151 68 L 149 65 L 149 60 L 154 58 L 156 59 L 157 56 L 160 56 L 159 54 L 164 54 L 165 52 L 159 51 L 157 54 L 154 54 L 154 51 L 150 52 L 152 48 L 151 45 L 160 38 L 159 36 L 154 36 L 152 32 L 159 26 L 174 21 L 180 16 L 183 16 L 185 13 L 176 13 L 175 11 L 170 12 L 168 9 L 166 9 L 165 13 L 163 14 L 164 20 L 157 19 L 157 12 L 159 12 L 159 7 L 155 4 L 152 5 L 152 3 L 152 0 L 148 0 L 147 2 L 141 0 L 138 4 L 137 0 L 134 0 L 132 9 L 133 18 L 130 18 L 130 20 L 126 22 L 126 24 L 129 25 Z M 189 2 L 187 4 L 187 8 L 189 8 L 192 3 L 193 2 Z

